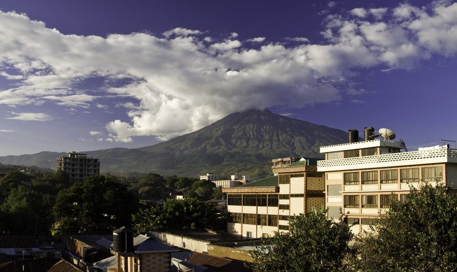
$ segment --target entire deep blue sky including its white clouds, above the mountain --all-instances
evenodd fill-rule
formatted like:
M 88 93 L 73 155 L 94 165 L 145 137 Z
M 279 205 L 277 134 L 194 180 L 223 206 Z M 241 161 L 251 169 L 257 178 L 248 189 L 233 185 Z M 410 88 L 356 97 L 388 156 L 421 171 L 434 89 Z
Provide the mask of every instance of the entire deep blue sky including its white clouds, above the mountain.
M 0 156 L 141 147 L 246 109 L 456 140 L 452 1 L 2 0 Z

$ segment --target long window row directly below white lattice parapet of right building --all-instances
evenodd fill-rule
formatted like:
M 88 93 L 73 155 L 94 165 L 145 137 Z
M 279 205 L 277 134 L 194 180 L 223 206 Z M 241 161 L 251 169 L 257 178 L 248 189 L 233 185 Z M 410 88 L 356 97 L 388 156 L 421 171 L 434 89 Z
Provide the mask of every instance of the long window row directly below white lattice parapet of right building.
M 377 184 L 380 183 L 397 183 L 398 169 L 380 170 L 378 179 L 378 171 L 362 171 L 344 173 L 345 185 L 360 184 Z M 418 182 L 419 168 L 400 169 L 400 182 Z M 432 166 L 422 167 L 422 181 L 443 181 L 443 167 Z

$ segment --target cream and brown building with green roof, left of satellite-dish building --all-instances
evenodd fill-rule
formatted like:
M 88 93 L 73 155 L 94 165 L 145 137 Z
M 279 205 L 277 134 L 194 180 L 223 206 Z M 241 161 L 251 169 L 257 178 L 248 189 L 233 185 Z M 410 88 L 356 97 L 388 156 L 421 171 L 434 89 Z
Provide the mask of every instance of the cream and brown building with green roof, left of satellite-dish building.
M 291 216 L 324 205 L 324 179 L 316 162 L 302 158 L 292 164 L 273 165 L 276 176 L 223 188 L 229 212 L 227 231 L 242 238 L 271 236 L 277 230 L 288 231 Z

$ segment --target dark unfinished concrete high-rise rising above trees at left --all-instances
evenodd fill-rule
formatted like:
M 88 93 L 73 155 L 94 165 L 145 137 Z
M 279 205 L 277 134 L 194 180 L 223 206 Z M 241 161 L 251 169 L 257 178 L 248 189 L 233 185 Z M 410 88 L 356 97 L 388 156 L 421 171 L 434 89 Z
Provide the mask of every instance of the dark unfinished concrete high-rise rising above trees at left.
M 72 151 L 58 159 L 58 169 L 67 173 L 70 181 L 82 182 L 86 177 L 100 174 L 100 160 Z

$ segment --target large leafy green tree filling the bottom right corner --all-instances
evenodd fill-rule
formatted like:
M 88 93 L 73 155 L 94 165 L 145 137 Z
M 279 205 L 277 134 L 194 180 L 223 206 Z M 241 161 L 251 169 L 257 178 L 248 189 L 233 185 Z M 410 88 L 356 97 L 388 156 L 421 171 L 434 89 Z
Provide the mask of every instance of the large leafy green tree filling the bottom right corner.
M 357 239 L 363 271 L 452 271 L 457 267 L 457 197 L 450 187 L 411 188 L 372 232 Z

